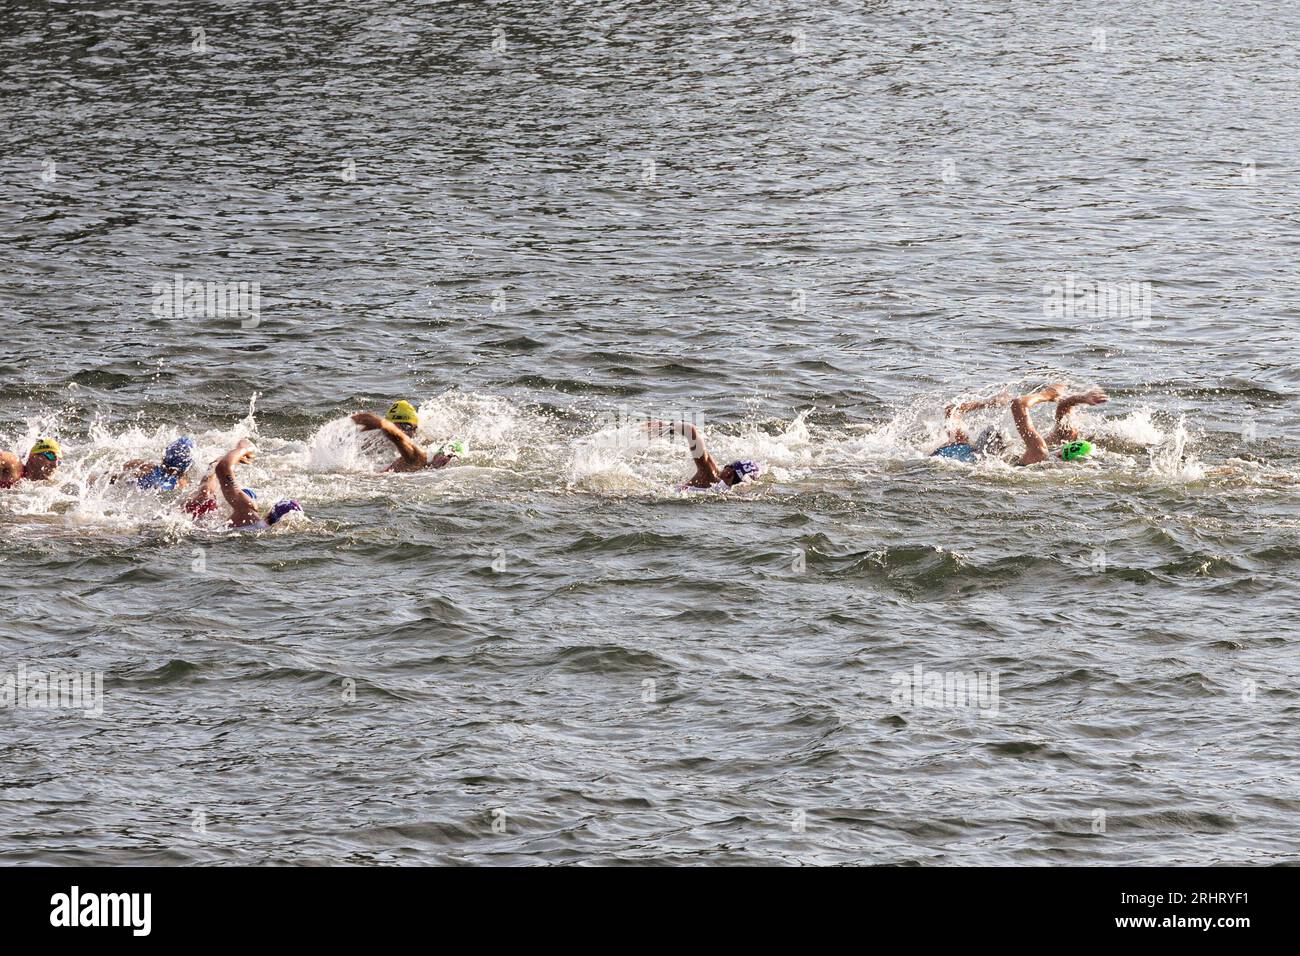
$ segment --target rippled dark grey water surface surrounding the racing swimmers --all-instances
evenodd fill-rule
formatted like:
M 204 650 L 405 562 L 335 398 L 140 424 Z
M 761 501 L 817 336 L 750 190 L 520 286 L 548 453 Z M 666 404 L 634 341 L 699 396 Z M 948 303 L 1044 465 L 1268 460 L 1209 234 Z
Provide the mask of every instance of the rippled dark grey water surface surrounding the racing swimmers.
M 0 445 L 65 462 L 0 492 L 0 676 L 104 696 L 0 709 L 0 860 L 1295 861 L 1296 36 L 6 5 Z M 156 315 L 178 273 L 257 320 Z M 1067 274 L 1150 316 L 1050 315 Z M 1112 397 L 1092 463 L 928 458 L 1057 380 Z M 343 416 L 396 398 L 469 454 L 376 473 Z M 640 415 L 767 472 L 682 494 Z M 98 477 L 178 433 L 309 520 Z

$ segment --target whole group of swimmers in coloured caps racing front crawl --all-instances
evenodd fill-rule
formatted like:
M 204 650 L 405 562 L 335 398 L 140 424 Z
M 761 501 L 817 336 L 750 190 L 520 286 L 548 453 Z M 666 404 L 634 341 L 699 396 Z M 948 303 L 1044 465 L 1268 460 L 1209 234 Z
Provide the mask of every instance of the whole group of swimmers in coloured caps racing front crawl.
M 1024 453 L 1014 459 L 1015 464 L 1036 464 L 1053 457 L 1066 462 L 1088 458 L 1093 453 L 1093 446 L 1080 438 L 1072 412 L 1079 406 L 1104 405 L 1110 399 L 1100 389 L 1072 395 L 1065 393 L 1065 385 L 1049 385 L 1040 392 L 1019 397 L 1000 393 L 991 398 L 949 405 L 944 410 L 944 444 L 931 454 L 961 462 L 1001 457 L 1006 450 L 1005 436 L 997 428 L 989 427 L 972 440 L 965 431 L 962 415 L 1009 405 L 1011 418 L 1024 442 Z M 1039 405 L 1052 402 L 1057 406 L 1056 424 L 1046 436 L 1043 436 L 1035 428 L 1030 411 Z M 433 451 L 416 444 L 415 434 L 420 427 L 420 416 L 415 406 L 406 401 L 394 402 L 384 418 L 370 412 L 358 412 L 351 419 L 360 425 L 361 432 L 382 433 L 396 449 L 398 458 L 385 471 L 415 472 L 424 468 L 442 468 L 467 451 L 463 441 L 447 441 Z M 647 421 L 645 432 L 651 438 L 681 434 L 686 440 L 696 473 L 682 485 L 684 490 L 727 490 L 754 481 L 763 472 L 762 464 L 750 459 L 719 466 L 705 446 L 699 429 L 685 421 Z M 195 522 L 208 520 L 221 510 L 220 496 L 230 506 L 226 527 L 246 531 L 270 528 L 290 514 L 302 514 L 302 505 L 292 498 L 283 498 L 263 512 L 257 505 L 256 492 L 239 484 L 235 468 L 251 462 L 255 454 L 252 442 L 247 438 L 240 440 L 224 457 L 212 462 L 196 486 L 179 499 L 182 510 Z M 20 481 L 47 481 L 55 476 L 61 460 L 62 447 L 53 438 L 39 438 L 31 446 L 25 462 L 9 451 L 0 451 L 0 490 L 13 488 Z M 194 440 L 181 437 L 168 445 L 160 462 L 130 460 L 120 472 L 109 476 L 108 481 L 129 484 L 147 492 L 183 492 L 190 486 L 188 475 L 192 468 Z

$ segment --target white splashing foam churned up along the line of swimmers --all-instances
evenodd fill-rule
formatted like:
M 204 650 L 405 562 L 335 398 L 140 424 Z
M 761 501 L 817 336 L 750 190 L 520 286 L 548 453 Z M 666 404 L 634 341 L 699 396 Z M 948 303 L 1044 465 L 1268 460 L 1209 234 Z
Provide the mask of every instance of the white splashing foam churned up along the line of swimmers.
M 503 493 L 525 484 L 555 492 L 671 497 L 682 493 L 681 485 L 694 470 L 686 442 L 680 437 L 651 438 L 640 424 L 625 423 L 592 431 L 589 412 L 575 412 L 575 420 L 566 424 L 537 408 L 511 405 L 499 397 L 450 390 L 419 405 L 416 441 L 437 447 L 445 441 L 462 440 L 469 446 L 467 455 L 448 468 L 426 475 L 387 475 L 384 470 L 396 458 L 393 445 L 377 432 L 361 432 L 350 416 L 326 421 L 302 441 L 280 438 L 261 433 L 256 403 L 255 394 L 250 398 L 247 415 L 228 429 L 190 432 L 198 463 L 190 475 L 191 483 L 240 438 L 256 440 L 259 449 L 254 462 L 240 468 L 240 481 L 255 488 L 261 501 L 294 497 L 303 501 L 308 511 L 313 501 L 438 498 L 452 492 L 478 494 L 486 493 L 493 483 Z M 922 399 L 894 410 L 883 421 L 842 428 L 810 424 L 814 410 L 807 410 L 790 421 L 750 420 L 703 431 L 719 464 L 738 458 L 753 458 L 763 464 L 764 475 L 755 488 L 748 489 L 750 492 L 798 492 L 810 483 L 822 486 L 827 481 L 845 481 L 852 489 L 881 470 L 928 459 L 945 440 L 942 407 L 944 402 L 937 398 Z M 1205 466 L 1188 450 L 1192 438 L 1186 423 L 1179 419 L 1164 429 L 1156 423 L 1156 415 L 1145 406 L 1114 418 L 1079 411 L 1076 421 L 1086 436 L 1100 444 L 1098 462 L 1138 471 L 1143 464 L 1138 457 L 1145 454 L 1149 460 L 1145 473 L 1152 479 L 1180 483 L 1204 477 Z M 6 444 L 21 447 L 27 442 L 30 447 L 36 437 L 52 432 L 55 418 L 52 412 L 30 419 L 22 436 Z M 992 425 L 1009 436 L 1011 447 L 1018 442 L 1010 415 L 1001 407 L 966 415 L 963 425 L 971 434 Z M 0 496 L 0 511 L 60 516 L 78 528 L 191 531 L 194 523 L 181 511 L 179 494 L 155 494 L 108 481 L 133 459 L 159 460 L 166 446 L 183 433 L 186 429 L 161 424 L 150 428 L 139 423 L 114 431 L 96 418 L 84 438 L 68 438 L 57 480 L 22 483 Z M 939 467 L 971 466 L 940 462 Z M 978 463 L 975 470 L 980 473 L 1019 471 L 996 458 Z

